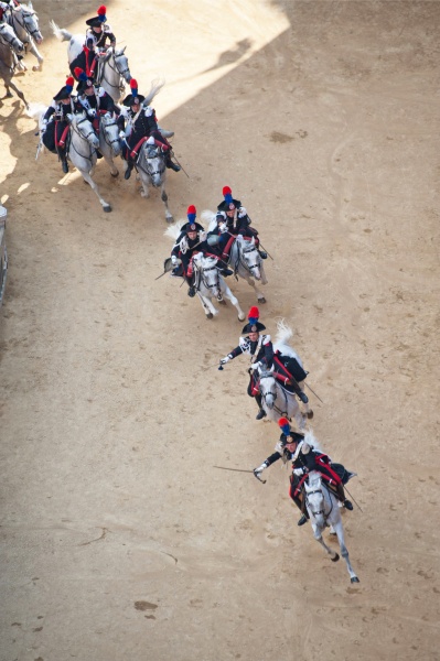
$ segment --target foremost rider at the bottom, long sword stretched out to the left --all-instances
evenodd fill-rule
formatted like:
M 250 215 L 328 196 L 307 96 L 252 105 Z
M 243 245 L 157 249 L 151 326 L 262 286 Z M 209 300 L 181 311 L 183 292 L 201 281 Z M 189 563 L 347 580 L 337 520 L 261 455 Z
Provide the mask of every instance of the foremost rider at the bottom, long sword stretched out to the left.
M 345 509 L 353 510 L 352 502 L 345 498 L 344 485 L 356 474 L 347 470 L 342 464 L 333 464 L 329 455 L 307 443 L 304 434 L 291 430 L 287 418 L 280 418 L 278 425 L 281 436 L 275 447 L 276 452 L 255 468 L 254 474 L 259 478 L 261 473 L 278 459 L 282 459 L 285 464 L 292 462 L 289 496 L 302 512 L 298 525 L 303 525 L 309 518 L 301 487 L 310 470 L 318 470 Z

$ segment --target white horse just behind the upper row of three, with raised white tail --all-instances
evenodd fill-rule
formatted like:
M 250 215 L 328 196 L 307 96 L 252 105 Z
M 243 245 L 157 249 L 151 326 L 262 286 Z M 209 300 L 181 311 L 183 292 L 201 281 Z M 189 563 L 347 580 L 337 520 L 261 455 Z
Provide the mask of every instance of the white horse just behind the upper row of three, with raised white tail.
M 50 24 L 53 34 L 58 41 L 68 41 L 67 58 L 68 65 L 71 66 L 83 52 L 86 37 L 84 34 L 72 34 L 68 30 L 58 28 L 54 21 L 50 21 Z M 109 47 L 105 54 L 101 54 L 98 57 L 98 69 L 95 76 L 95 84 L 104 87 L 115 104 L 117 104 L 124 95 L 125 82 L 130 83 L 132 78 L 125 51 L 126 46 L 124 48 L 115 50 Z

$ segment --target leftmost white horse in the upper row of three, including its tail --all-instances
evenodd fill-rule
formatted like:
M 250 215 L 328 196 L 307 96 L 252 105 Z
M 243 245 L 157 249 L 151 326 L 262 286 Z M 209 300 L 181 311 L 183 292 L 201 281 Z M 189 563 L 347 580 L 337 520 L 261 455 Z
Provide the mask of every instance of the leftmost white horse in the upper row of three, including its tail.
M 43 104 L 32 104 L 28 110 L 28 115 L 39 122 L 40 136 L 43 126 L 43 117 L 46 109 L 46 106 L 43 106 Z M 76 115 L 67 115 L 67 121 L 71 129 L 67 142 L 67 158 L 81 172 L 84 181 L 89 184 L 93 192 L 98 197 L 103 210 L 111 212 L 111 206 L 100 196 L 98 186 L 92 178 L 97 160 L 96 150 L 99 149 L 99 139 L 95 133 L 92 121 L 88 119 L 85 111 Z M 39 153 L 40 147 L 37 155 Z

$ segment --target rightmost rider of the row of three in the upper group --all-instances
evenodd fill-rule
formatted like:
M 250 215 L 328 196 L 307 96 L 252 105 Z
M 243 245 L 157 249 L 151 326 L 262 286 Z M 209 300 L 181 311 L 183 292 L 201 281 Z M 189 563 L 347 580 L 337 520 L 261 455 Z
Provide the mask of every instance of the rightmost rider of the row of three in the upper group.
M 125 141 L 122 158 L 127 161 L 125 178 L 130 178 L 135 162 L 146 141 L 147 144 L 155 144 L 163 151 L 167 167 L 180 172 L 180 165 L 171 160 L 171 144 L 159 129 L 154 109 L 151 106 L 142 105 L 146 97 L 138 94 L 138 83 L 135 78 L 130 80 L 130 89 L 131 94 L 124 99 L 121 109 L 121 117 L 127 122 L 125 133 L 120 133 L 121 139 Z

